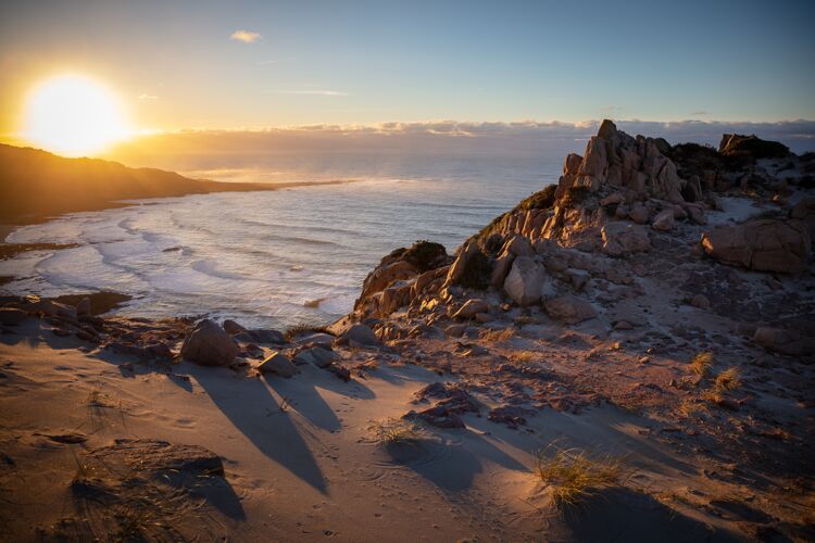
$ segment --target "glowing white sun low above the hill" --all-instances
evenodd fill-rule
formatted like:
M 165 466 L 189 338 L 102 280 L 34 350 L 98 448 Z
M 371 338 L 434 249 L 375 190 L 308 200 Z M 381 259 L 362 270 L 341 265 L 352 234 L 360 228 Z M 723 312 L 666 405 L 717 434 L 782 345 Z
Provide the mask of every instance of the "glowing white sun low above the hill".
M 38 85 L 25 106 L 24 136 L 68 156 L 95 153 L 130 136 L 112 92 L 80 75 L 61 75 Z

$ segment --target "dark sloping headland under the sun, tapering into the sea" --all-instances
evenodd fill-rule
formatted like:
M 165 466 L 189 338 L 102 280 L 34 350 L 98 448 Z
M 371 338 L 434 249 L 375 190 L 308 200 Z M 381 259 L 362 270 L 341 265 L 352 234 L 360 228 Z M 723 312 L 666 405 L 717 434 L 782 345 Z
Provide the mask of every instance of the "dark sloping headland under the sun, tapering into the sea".
M 163 169 L 130 168 L 98 159 L 65 159 L 39 149 L 0 144 L 0 222 L 7 224 L 118 207 L 122 200 L 279 187 L 190 179 Z

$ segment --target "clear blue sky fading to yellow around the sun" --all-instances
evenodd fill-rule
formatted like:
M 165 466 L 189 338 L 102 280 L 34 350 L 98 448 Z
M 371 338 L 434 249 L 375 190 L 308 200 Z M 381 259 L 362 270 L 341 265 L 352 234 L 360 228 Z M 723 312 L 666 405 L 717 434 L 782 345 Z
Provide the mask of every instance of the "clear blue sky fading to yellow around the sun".
M 7 1 L 0 129 L 65 71 L 162 129 L 815 119 L 813 22 L 815 1 Z

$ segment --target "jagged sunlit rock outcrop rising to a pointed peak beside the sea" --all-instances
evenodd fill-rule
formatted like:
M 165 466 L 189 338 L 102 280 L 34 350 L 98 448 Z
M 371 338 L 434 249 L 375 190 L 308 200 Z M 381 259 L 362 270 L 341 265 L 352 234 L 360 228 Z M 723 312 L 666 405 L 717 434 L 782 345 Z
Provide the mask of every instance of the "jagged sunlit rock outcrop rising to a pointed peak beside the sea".
M 634 138 L 604 121 L 584 156 L 566 156 L 556 186 L 497 217 L 454 256 L 422 241 L 383 258 L 365 279 L 351 319 L 369 324 L 383 340 L 437 334 L 434 325 L 449 319 L 486 325 L 515 308 L 540 310 L 576 325 L 607 304 L 593 288 L 598 281 L 636 289 L 648 263 L 639 255 L 656 248 L 651 260 L 659 261 L 675 245 L 688 247 L 688 256 L 700 263 L 709 257 L 751 272 L 811 273 L 815 198 L 795 187 L 805 177 L 779 182 L 757 165 L 756 159 L 767 156 L 801 163 L 772 143 L 726 135 L 718 152 L 672 147 L 659 138 Z M 788 200 L 793 187 L 794 202 Z M 709 215 L 722 210 L 720 197 L 756 191 L 773 193 L 767 216 L 707 226 Z M 403 256 L 416 252 L 434 257 L 417 266 Z M 710 307 L 703 298 L 693 305 Z M 405 330 L 393 315 L 419 316 L 424 323 Z M 630 325 L 620 320 L 619 326 Z M 443 329 L 465 330 L 461 325 Z M 770 348 L 767 337 L 755 342 Z

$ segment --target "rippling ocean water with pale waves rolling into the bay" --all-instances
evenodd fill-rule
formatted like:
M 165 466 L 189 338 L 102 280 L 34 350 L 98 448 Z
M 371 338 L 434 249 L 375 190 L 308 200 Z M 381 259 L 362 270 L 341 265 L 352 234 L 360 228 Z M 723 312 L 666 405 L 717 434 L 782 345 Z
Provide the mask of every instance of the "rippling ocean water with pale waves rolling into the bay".
M 276 191 L 128 202 L 22 227 L 7 241 L 77 243 L 0 262 L 0 290 L 59 295 L 112 290 L 118 313 L 206 314 L 244 326 L 328 324 L 393 249 L 427 239 L 452 253 L 496 215 L 557 181 L 585 141 L 534 151 L 441 155 L 348 152 L 230 156 L 185 175 L 216 180 L 342 181 Z M 316 305 L 316 306 L 314 306 Z

